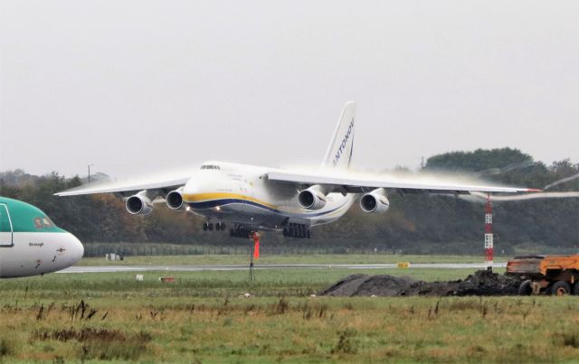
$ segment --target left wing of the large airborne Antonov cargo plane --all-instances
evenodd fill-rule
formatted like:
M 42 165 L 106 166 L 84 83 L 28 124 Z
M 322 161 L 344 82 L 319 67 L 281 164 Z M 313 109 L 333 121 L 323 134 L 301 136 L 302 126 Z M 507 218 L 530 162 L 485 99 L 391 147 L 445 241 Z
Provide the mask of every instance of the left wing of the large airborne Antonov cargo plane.
M 166 181 L 160 182 L 105 182 L 105 183 L 96 183 L 96 184 L 89 184 L 80 186 L 77 188 L 73 188 L 68 191 L 62 191 L 58 193 L 54 193 L 56 196 L 78 196 L 78 195 L 86 195 L 86 194 L 95 194 L 95 193 L 119 193 L 125 194 L 128 192 L 133 191 L 142 191 L 142 190 L 164 190 L 164 189 L 173 189 L 176 187 L 183 186 L 189 178 L 180 178 L 180 179 L 167 179 Z

